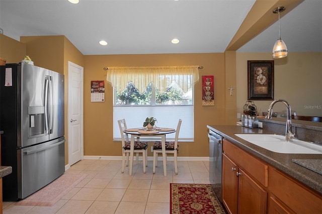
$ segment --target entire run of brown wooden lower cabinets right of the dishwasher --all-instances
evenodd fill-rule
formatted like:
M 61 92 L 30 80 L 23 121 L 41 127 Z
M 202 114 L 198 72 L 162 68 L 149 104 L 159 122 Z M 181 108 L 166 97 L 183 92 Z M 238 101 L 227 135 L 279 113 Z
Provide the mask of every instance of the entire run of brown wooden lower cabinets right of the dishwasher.
M 222 202 L 228 213 L 322 213 L 322 195 L 223 139 Z

